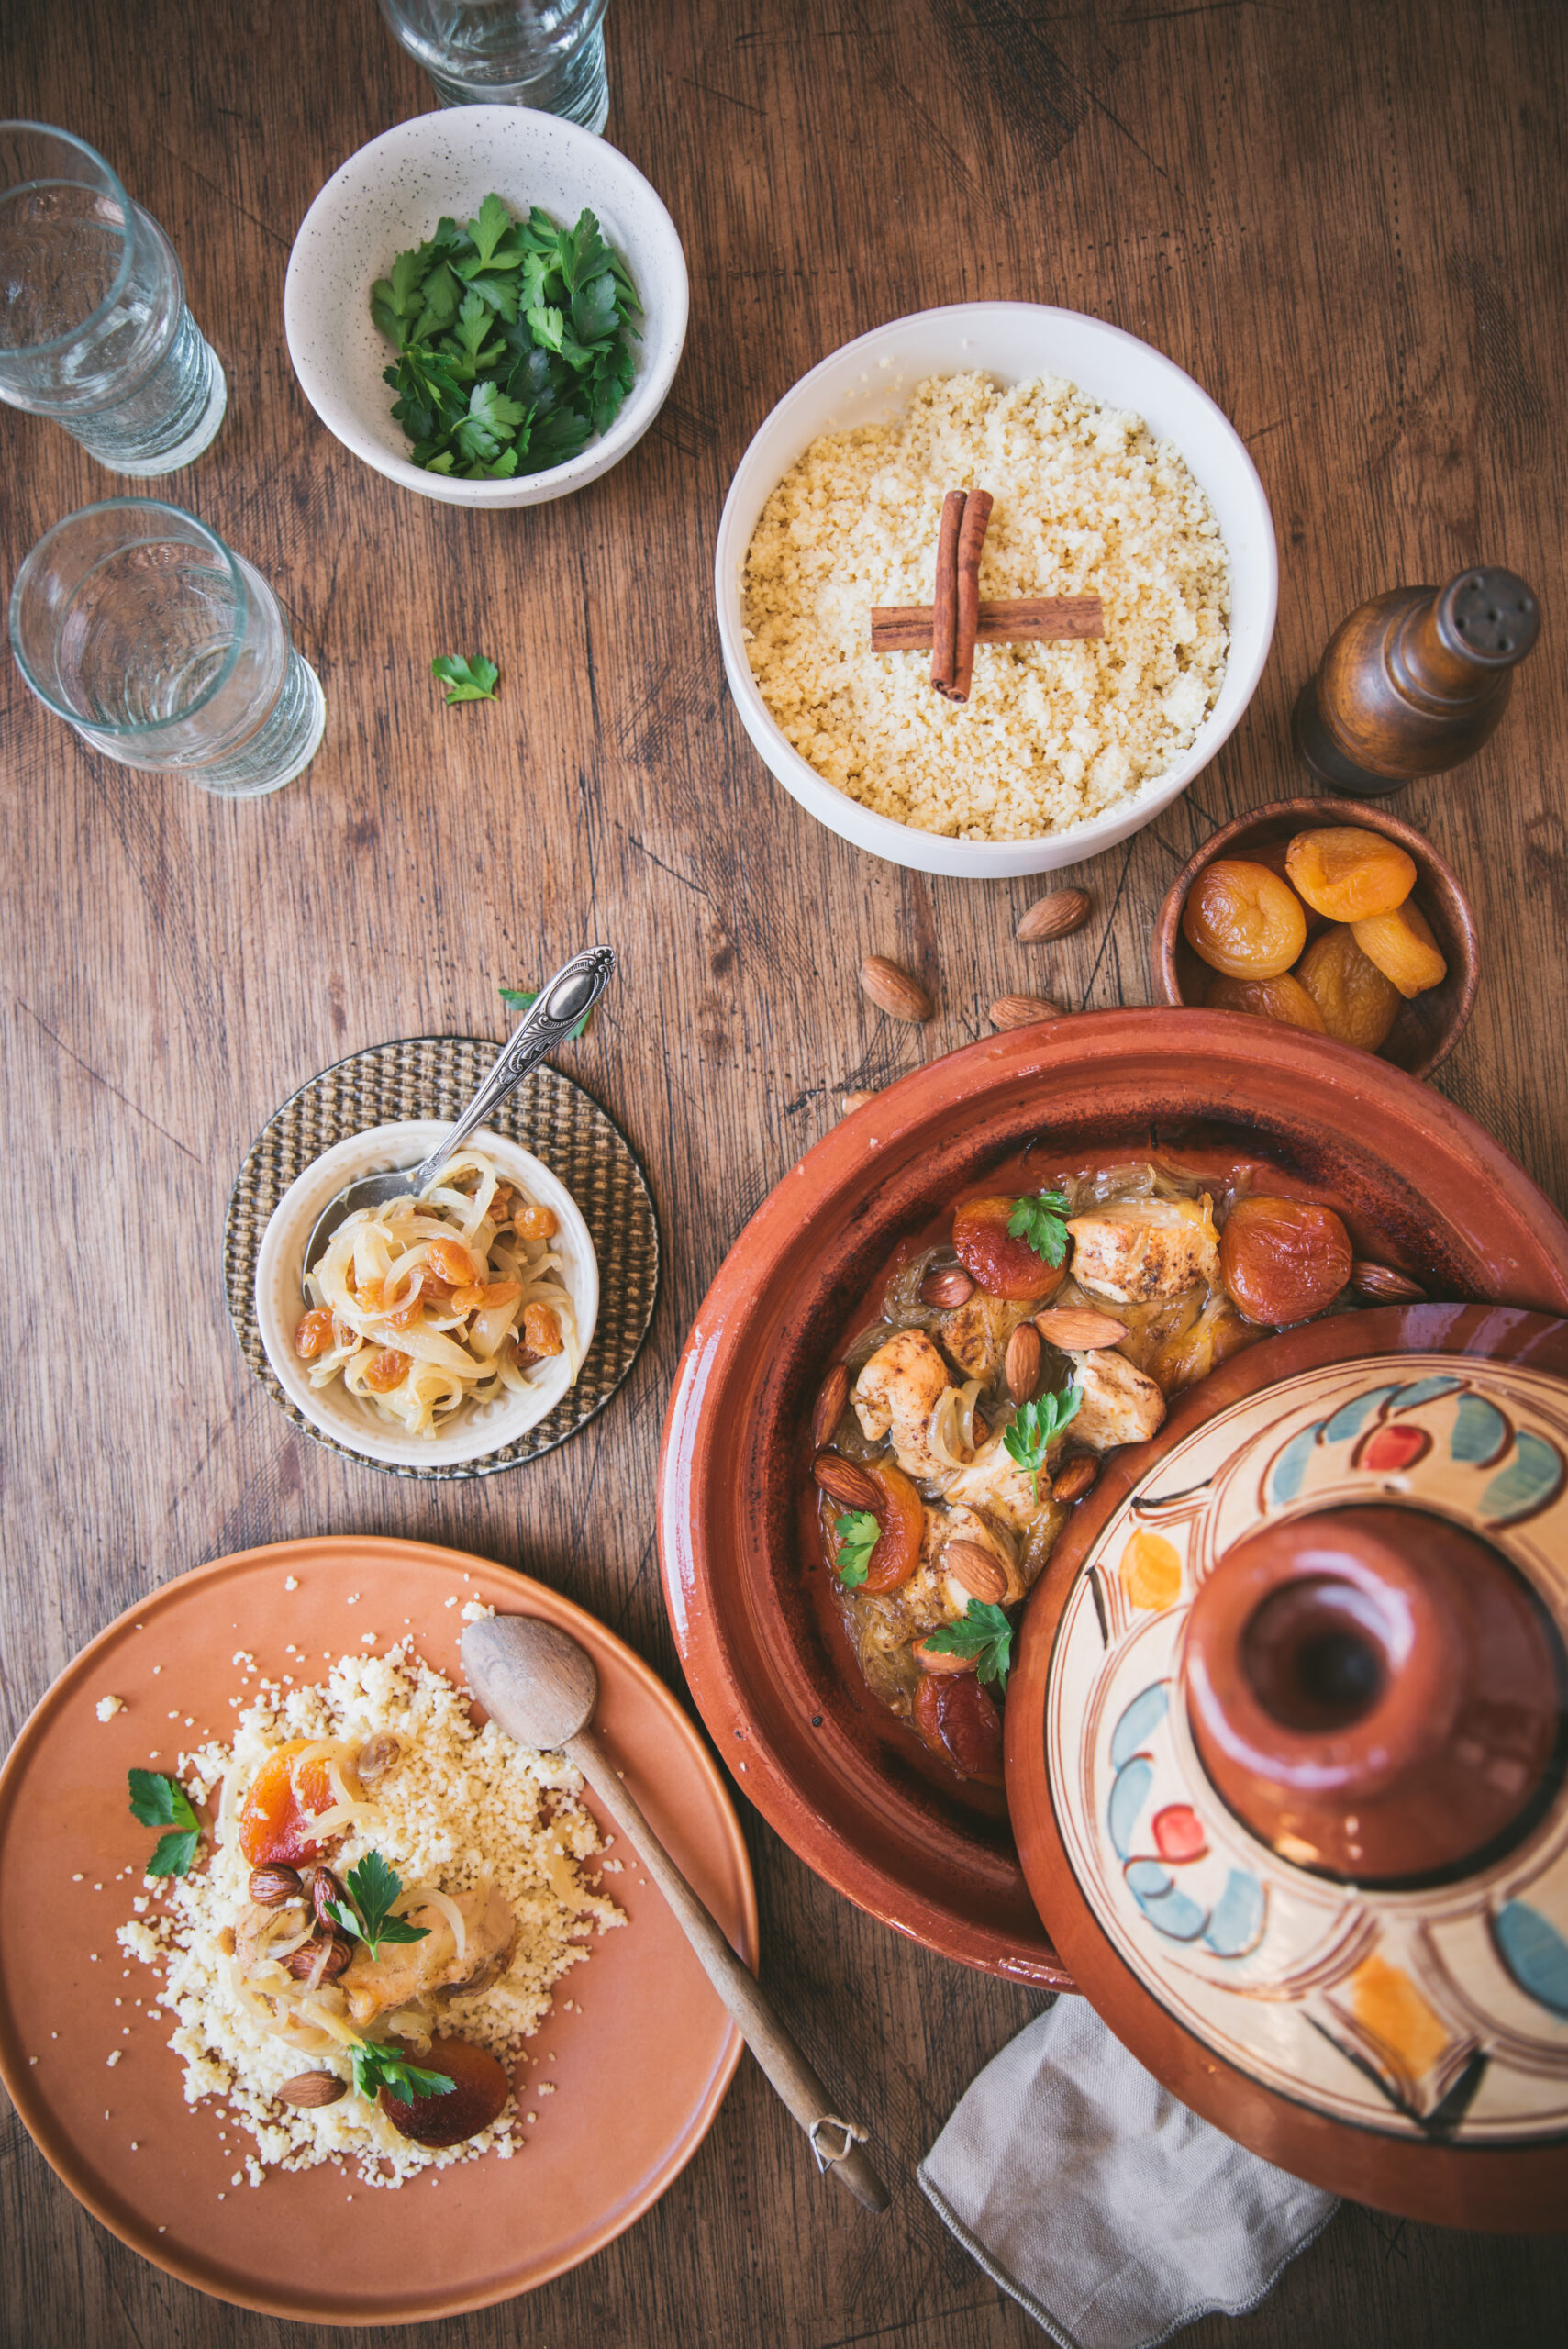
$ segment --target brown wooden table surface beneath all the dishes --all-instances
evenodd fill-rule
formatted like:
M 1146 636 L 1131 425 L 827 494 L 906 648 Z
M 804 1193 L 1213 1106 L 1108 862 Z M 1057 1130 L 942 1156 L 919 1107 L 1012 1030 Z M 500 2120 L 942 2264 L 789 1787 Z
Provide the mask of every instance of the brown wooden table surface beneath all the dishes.
M 1467 876 L 1481 1001 L 1439 1083 L 1568 1205 L 1568 458 L 1559 373 L 1568 16 L 1174 0 L 685 0 L 610 9 L 610 136 L 685 240 L 692 324 L 653 432 L 594 489 L 516 514 L 404 496 L 315 420 L 282 287 L 310 197 L 430 103 L 371 0 L 12 0 L 5 110 L 94 141 L 167 226 L 230 413 L 167 496 L 284 597 L 326 742 L 230 806 L 89 756 L 23 688 L 5 714 L 5 1214 L 12 1369 L 0 1727 L 134 1595 L 291 1534 L 460 1543 L 570 1593 L 678 1687 L 653 1546 L 681 1337 L 746 1214 L 873 1088 L 1047 982 L 1148 996 L 1148 928 L 1188 850 L 1298 785 L 1296 686 L 1361 597 L 1465 561 L 1519 568 L 1547 641 L 1493 745 L 1397 806 Z M 1235 418 L 1275 505 L 1263 688 L 1160 822 L 1080 871 L 1094 921 L 1012 944 L 1028 883 L 925 881 L 819 829 L 730 709 L 709 568 L 730 472 L 824 352 L 906 310 L 1026 296 L 1145 336 Z M 120 486 L 0 411 L 5 580 Z M 141 486 L 141 484 L 129 484 Z M 444 709 L 439 651 L 502 665 Z M 228 1191 L 272 1106 L 359 1045 L 500 1036 L 495 989 L 584 937 L 622 977 L 563 1055 L 648 1165 L 667 1247 L 629 1391 L 563 1452 L 484 1485 L 406 1485 L 293 1435 L 232 1341 Z M 927 1031 L 854 984 L 885 951 Z M 894 2213 L 819 2185 L 746 2062 L 638 2227 L 462 2344 L 979 2344 L 1040 2335 L 951 2243 L 913 2166 L 1038 2008 L 861 1919 L 746 1811 L 763 1978 L 850 2112 Z M 7 2342 L 326 2340 L 204 2302 L 70 2201 L 0 2121 Z M 286 2246 L 279 2243 L 279 2260 Z M 1235 2328 L 1192 2344 L 1535 2342 L 1561 2243 L 1345 2210 Z M 392 2335 L 385 2335 L 387 2340 Z M 404 2337 L 404 2335 L 399 2335 Z

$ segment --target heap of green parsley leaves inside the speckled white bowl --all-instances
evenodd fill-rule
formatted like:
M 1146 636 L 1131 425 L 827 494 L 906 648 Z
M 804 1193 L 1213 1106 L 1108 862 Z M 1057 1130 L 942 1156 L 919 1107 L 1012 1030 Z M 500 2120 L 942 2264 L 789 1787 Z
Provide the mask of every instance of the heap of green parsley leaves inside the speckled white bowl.
M 615 423 L 641 315 L 592 211 L 556 228 L 486 195 L 477 218 L 439 221 L 371 291 L 413 463 L 465 482 L 563 465 Z

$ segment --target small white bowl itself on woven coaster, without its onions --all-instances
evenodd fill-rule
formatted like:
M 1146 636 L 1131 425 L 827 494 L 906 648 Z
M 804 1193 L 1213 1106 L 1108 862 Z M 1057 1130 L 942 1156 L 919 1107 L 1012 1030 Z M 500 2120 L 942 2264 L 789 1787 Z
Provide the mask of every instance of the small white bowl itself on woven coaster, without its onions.
M 289 1402 L 322 1435 L 331 1435 L 350 1452 L 383 1461 L 387 1468 L 453 1468 L 460 1461 L 500 1452 L 502 1445 L 516 1442 L 554 1412 L 568 1384 L 566 1355 L 561 1353 L 540 1365 L 526 1395 L 505 1395 L 500 1402 L 484 1405 L 465 1402 L 439 1435 L 406 1435 L 378 1419 L 357 1395 L 350 1395 L 343 1379 L 333 1379 L 331 1386 L 312 1386 L 305 1377 L 305 1365 L 293 1351 L 293 1332 L 305 1313 L 300 1278 L 305 1243 L 322 1207 L 331 1205 L 338 1191 L 361 1174 L 418 1165 L 444 1132 L 441 1118 L 404 1118 L 397 1125 L 373 1125 L 364 1135 L 336 1142 L 289 1184 L 261 1236 L 256 1257 L 256 1325 Z M 599 1261 L 575 1198 L 530 1151 L 507 1142 L 505 1135 L 493 1135 L 486 1125 L 479 1128 L 469 1146 L 493 1158 L 507 1182 L 523 1184 L 540 1207 L 556 1210 L 566 1292 L 577 1315 L 577 1341 L 587 1355 L 599 1318 Z

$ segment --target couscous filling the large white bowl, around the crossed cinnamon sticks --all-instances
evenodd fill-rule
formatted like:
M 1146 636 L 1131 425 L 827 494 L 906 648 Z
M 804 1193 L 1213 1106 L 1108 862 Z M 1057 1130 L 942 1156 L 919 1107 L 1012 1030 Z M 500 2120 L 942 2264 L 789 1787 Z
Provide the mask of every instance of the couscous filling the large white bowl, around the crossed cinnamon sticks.
M 1103 639 L 981 644 L 967 702 L 871 608 L 930 604 L 948 489 L 995 498 L 981 597 L 1096 594 Z M 817 773 L 899 824 L 1021 841 L 1103 815 L 1190 747 L 1230 641 L 1225 543 L 1169 442 L 1061 376 L 932 376 L 890 425 L 824 432 L 751 538 L 758 691 Z

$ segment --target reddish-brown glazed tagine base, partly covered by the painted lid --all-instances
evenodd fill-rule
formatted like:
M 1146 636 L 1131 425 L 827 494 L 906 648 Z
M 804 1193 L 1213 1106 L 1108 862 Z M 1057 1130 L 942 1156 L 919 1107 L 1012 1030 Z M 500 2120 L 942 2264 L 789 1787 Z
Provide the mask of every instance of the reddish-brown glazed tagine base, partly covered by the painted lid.
M 1568 1308 L 1568 1226 L 1451 1102 L 1371 1052 L 1235 1012 L 1045 1019 L 847 1116 L 763 1200 L 681 1355 L 660 1564 L 721 1755 L 807 1867 L 930 1950 L 1066 1983 L 998 1799 L 920 1769 L 864 1689 L 800 1541 L 807 1419 L 857 1297 L 906 1233 L 1035 1142 L 1218 1142 L 1345 1212 L 1357 1254 L 1434 1294 Z M 946 1781 L 946 1783 L 944 1783 Z

